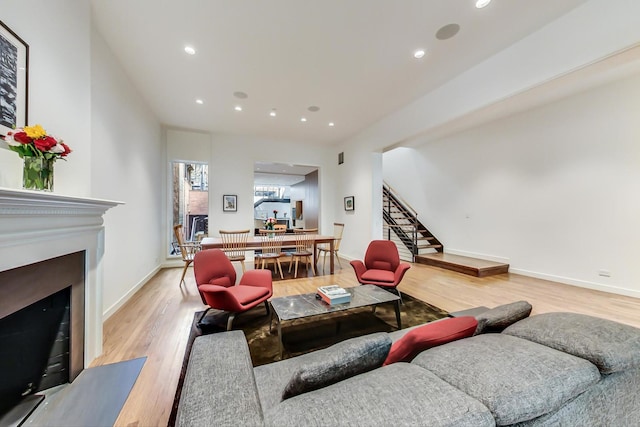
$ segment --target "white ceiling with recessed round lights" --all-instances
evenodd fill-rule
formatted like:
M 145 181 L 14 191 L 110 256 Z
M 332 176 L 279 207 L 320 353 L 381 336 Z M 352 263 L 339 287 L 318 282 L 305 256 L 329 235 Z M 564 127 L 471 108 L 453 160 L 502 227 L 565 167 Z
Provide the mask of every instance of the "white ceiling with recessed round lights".
M 98 31 L 163 124 L 334 144 L 584 0 L 494 0 L 484 9 L 475 0 L 91 3 Z M 459 33 L 438 40 L 452 23 Z M 427 51 L 420 60 L 417 48 Z

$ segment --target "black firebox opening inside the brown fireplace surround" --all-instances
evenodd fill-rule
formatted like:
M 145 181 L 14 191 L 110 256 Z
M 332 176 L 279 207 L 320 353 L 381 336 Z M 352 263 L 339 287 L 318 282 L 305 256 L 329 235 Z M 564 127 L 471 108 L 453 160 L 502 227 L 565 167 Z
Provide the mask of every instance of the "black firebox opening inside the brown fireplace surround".
M 69 382 L 71 288 L 0 319 L 0 414 Z

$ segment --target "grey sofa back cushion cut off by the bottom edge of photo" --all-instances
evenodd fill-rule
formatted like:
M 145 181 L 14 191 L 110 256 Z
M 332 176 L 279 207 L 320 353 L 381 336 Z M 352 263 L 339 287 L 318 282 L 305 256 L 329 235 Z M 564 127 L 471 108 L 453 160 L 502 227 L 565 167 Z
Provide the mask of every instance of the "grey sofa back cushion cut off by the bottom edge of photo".
M 431 372 L 394 363 L 265 410 L 267 426 L 495 425 L 476 399 Z

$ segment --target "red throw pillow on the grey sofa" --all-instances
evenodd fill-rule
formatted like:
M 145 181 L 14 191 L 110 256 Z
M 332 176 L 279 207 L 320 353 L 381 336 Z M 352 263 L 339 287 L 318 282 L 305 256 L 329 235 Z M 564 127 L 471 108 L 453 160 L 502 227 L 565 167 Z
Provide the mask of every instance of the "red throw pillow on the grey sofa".
M 423 350 L 473 335 L 478 321 L 473 316 L 453 317 L 407 332 L 394 342 L 384 365 L 395 362 L 410 362 Z

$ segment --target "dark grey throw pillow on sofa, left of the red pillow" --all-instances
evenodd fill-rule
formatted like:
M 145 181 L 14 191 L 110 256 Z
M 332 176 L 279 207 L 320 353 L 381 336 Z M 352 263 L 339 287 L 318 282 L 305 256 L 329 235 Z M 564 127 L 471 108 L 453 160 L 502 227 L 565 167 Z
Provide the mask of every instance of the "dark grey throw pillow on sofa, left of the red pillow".
M 317 390 L 354 375 L 382 366 L 391 339 L 384 332 L 342 341 L 310 353 L 293 372 L 282 392 L 282 399 Z

